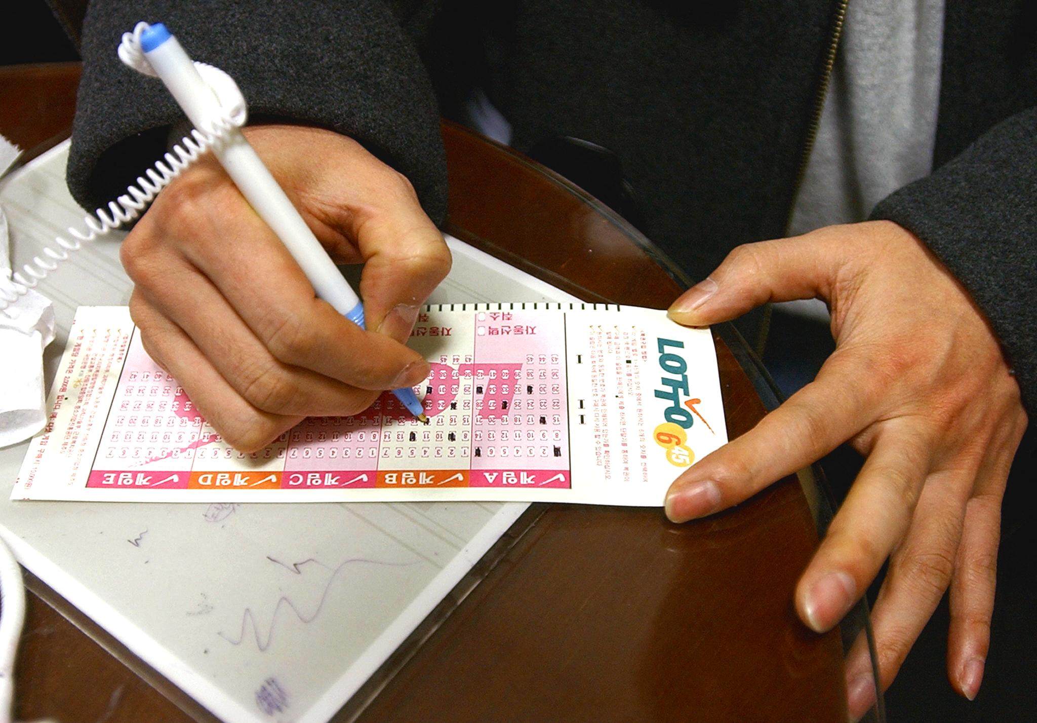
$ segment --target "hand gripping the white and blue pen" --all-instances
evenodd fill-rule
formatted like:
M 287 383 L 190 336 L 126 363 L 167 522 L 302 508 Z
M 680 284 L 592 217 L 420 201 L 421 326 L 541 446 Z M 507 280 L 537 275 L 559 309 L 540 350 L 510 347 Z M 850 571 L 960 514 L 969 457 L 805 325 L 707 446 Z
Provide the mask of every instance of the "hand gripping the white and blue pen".
M 450 252 L 410 183 L 331 131 L 243 131 L 328 251 L 363 262 L 364 331 L 314 296 L 212 156 L 163 190 L 122 242 L 144 349 L 226 442 L 254 451 L 308 415 L 351 415 L 421 382 L 403 345 Z

